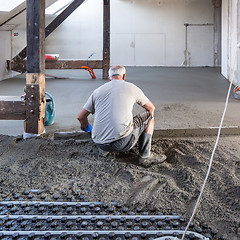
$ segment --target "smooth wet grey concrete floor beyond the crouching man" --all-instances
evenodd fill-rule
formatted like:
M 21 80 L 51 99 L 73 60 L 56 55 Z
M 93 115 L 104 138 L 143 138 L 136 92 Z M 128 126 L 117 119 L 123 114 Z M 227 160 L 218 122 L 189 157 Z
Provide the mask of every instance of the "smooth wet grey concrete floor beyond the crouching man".
M 48 70 L 47 73 L 66 79 L 46 78 L 46 91 L 56 103 L 55 123 L 46 127 L 46 132 L 80 130 L 76 120 L 78 112 L 92 91 L 107 82 L 101 79 L 101 70 L 95 70 L 97 79 L 91 79 L 83 70 Z M 156 106 L 156 129 L 219 125 L 229 87 L 220 68 L 127 67 L 126 76 Z M 24 75 L 1 81 L 0 95 L 22 95 L 24 86 Z M 239 126 L 239 103 L 231 91 L 224 126 Z M 140 111 L 141 107 L 134 108 L 134 114 Z M 0 120 L 0 134 L 21 135 L 23 130 L 23 121 Z

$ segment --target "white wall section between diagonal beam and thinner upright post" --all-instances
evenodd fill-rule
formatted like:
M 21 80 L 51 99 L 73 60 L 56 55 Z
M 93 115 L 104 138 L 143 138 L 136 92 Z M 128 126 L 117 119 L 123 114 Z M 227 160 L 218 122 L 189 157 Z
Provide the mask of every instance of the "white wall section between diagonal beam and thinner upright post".
M 46 39 L 46 53 L 59 53 L 61 59 L 94 53 L 91 59 L 102 59 L 102 18 L 102 0 L 86 1 Z

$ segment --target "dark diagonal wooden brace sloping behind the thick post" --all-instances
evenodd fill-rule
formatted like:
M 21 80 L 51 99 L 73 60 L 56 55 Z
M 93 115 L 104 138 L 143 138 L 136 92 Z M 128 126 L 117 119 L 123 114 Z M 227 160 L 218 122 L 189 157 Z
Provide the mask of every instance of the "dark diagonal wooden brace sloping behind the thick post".
M 59 14 L 45 29 L 45 38 L 47 38 L 64 20 L 66 20 L 85 0 L 73 1 L 61 14 Z M 34 2 L 34 1 L 32 1 Z M 25 47 L 12 61 L 19 62 L 27 56 L 27 47 Z

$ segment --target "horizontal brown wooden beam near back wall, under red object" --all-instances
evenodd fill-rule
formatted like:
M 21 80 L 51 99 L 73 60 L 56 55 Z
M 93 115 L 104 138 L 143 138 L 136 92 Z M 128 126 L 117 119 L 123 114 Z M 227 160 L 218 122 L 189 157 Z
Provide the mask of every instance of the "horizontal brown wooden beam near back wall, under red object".
M 82 66 L 86 66 L 86 61 L 84 60 L 60 60 L 60 61 L 46 61 L 46 69 L 81 69 Z M 102 69 L 102 60 L 89 60 L 88 66 L 92 69 Z M 20 73 L 26 71 L 26 61 L 12 62 L 9 64 L 9 70 L 14 70 Z

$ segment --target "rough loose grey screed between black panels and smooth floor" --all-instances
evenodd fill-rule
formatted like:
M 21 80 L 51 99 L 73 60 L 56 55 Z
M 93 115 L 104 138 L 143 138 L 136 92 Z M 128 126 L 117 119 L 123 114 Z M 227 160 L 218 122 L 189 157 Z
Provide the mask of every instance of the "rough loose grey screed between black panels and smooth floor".
M 195 218 L 227 239 L 240 238 L 239 140 L 221 138 Z M 145 168 L 138 164 L 137 148 L 99 158 L 92 141 L 0 135 L 0 199 L 26 189 L 68 194 L 72 184 L 73 189 L 81 185 L 89 201 L 114 200 L 155 214 L 175 212 L 189 218 L 214 143 L 215 138 L 155 139 L 153 152 L 165 153 L 167 160 Z

